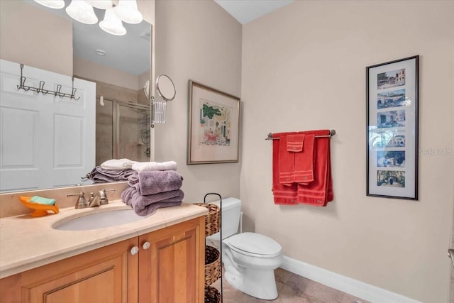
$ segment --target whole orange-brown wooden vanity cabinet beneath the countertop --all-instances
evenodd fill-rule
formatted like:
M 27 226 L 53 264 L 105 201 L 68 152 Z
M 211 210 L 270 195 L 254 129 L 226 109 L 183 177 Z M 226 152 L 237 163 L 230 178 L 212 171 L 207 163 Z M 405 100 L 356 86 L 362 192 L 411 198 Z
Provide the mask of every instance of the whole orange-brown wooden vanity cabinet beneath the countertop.
M 0 301 L 203 302 L 204 217 L 1 279 Z

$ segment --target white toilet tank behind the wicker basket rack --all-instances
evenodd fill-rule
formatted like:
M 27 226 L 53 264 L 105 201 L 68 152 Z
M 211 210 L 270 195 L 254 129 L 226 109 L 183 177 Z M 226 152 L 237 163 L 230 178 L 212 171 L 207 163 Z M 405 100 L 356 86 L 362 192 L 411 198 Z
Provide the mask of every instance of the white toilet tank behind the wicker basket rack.
M 221 233 L 225 239 L 238 232 L 241 216 L 241 200 L 233 197 L 222 199 L 222 202 L 215 201 L 210 204 L 221 204 Z

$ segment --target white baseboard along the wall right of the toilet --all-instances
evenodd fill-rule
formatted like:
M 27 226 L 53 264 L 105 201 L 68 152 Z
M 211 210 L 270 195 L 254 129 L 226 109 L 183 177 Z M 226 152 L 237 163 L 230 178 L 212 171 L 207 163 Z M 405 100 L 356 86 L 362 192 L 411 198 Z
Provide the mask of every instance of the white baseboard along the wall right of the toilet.
M 372 303 L 421 303 L 401 294 L 389 292 L 380 287 L 375 287 L 287 256 L 284 256 L 284 263 L 282 263 L 281 268 Z

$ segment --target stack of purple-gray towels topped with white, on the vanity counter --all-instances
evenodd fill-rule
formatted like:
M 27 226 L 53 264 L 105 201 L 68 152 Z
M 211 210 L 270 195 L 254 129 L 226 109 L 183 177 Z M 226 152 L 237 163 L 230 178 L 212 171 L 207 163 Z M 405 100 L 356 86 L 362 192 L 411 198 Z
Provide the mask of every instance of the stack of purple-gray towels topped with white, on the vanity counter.
M 176 172 L 176 162 L 135 162 L 132 167 L 129 187 L 121 193 L 121 199 L 136 214 L 148 216 L 159 208 L 182 204 L 183 178 Z

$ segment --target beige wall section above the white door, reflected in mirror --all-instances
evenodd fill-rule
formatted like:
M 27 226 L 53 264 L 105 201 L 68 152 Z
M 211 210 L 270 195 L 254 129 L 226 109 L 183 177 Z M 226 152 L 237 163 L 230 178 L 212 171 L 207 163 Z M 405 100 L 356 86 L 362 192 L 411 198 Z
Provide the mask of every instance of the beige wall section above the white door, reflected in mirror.
M 0 58 L 72 76 L 72 23 L 23 1 L 1 0 Z

